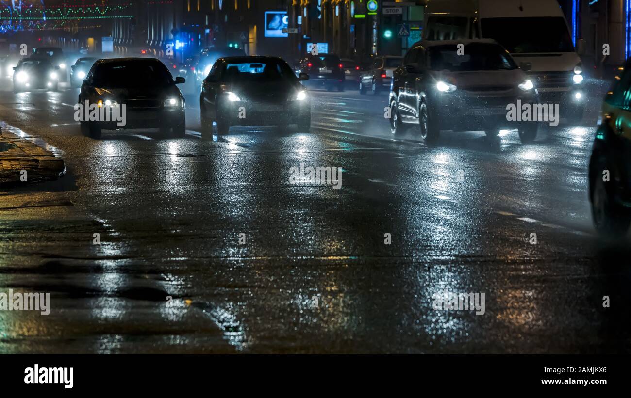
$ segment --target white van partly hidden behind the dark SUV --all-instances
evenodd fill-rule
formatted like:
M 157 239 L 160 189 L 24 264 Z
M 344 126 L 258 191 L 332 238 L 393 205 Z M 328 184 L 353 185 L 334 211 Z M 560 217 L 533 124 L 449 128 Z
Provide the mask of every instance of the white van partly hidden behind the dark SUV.
M 496 40 L 528 71 L 541 102 L 560 103 L 564 117 L 582 118 L 581 59 L 557 0 L 430 0 L 423 38 Z M 577 47 L 584 47 L 582 39 Z

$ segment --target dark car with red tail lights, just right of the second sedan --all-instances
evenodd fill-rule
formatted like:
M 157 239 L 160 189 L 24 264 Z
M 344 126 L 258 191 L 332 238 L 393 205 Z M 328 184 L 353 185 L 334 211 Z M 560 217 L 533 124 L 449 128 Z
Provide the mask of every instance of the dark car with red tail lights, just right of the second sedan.
M 295 70 L 296 76 L 300 76 L 301 73 L 309 76 L 309 80 L 305 82 L 305 86 L 309 88 L 344 91 L 344 82 L 346 81 L 344 65 L 335 54 L 307 54 L 298 62 L 298 67 Z

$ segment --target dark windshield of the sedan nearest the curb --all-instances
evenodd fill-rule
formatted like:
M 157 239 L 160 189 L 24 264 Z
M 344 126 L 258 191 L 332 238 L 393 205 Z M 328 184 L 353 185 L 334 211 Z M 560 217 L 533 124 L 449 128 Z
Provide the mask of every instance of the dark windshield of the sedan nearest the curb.
M 173 84 L 173 78 L 160 62 L 126 61 L 100 64 L 93 73 L 97 87 L 163 87 Z

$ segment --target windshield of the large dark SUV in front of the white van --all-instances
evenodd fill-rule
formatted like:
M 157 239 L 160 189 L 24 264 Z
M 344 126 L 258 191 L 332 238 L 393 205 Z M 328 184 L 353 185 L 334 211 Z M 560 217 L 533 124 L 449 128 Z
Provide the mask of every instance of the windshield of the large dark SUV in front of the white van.
M 472 43 L 464 46 L 464 54 L 457 54 L 456 45 L 428 48 L 429 69 L 433 71 L 508 71 L 517 69 L 504 48 L 495 44 Z

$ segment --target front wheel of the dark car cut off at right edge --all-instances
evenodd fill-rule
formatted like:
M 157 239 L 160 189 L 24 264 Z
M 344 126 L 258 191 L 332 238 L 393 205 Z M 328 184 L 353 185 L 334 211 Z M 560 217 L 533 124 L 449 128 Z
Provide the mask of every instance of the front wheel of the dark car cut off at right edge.
M 601 236 L 622 239 L 631 224 L 631 212 L 611 200 L 601 175 L 594 177 L 591 210 L 594 227 Z

